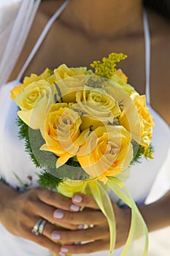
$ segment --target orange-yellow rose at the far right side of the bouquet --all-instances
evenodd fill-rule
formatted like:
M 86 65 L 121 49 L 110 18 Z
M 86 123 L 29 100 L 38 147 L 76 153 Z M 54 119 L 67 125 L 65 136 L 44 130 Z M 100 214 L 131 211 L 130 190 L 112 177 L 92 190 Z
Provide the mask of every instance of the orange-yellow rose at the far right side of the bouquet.
M 139 113 L 140 118 L 140 144 L 142 146 L 150 146 L 152 139 L 152 127 L 154 126 L 153 117 L 150 115 L 149 108 L 146 105 L 145 95 L 137 95 L 134 99 L 134 105 Z

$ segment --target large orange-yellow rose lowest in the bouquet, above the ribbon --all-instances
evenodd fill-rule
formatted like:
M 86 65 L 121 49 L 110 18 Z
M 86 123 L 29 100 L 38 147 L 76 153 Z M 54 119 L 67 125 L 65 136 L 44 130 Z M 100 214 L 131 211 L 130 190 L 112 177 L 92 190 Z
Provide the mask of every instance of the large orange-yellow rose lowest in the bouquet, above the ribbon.
M 107 176 L 117 176 L 133 158 L 131 134 L 121 126 L 98 127 L 89 134 L 77 152 L 80 165 L 91 178 L 106 182 Z

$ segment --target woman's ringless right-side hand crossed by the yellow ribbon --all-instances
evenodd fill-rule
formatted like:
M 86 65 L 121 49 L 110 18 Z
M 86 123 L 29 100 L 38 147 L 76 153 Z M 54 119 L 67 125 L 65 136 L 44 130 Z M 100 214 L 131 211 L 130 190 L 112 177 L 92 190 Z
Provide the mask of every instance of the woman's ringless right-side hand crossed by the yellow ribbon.
M 99 210 L 93 197 L 91 195 L 77 194 L 72 198 L 72 203 L 85 208 L 83 211 L 76 213 L 60 211 L 61 215 L 58 216 L 58 220 L 62 219 L 63 222 L 79 225 L 79 230 L 56 230 L 53 232 L 54 241 L 60 240 L 65 244 L 61 247 L 60 255 L 64 255 L 64 253 L 80 255 L 109 249 L 107 219 Z M 127 239 L 131 211 L 130 209 L 120 209 L 115 203 L 113 203 L 113 208 L 117 227 L 117 248 L 125 244 Z M 68 241 L 70 245 L 66 244 Z

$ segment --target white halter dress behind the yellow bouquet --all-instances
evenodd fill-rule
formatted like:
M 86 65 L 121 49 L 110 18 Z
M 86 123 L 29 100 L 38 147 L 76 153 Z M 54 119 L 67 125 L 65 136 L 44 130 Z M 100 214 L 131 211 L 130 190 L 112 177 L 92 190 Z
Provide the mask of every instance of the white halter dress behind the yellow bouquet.
M 144 18 L 146 19 L 146 17 Z M 146 21 L 146 20 L 145 20 Z M 147 23 L 146 23 L 147 24 Z M 145 24 L 145 25 L 146 25 Z M 147 37 L 148 26 L 145 26 L 145 37 Z M 150 39 L 146 40 L 146 53 L 150 48 Z M 150 60 L 150 58 L 149 58 Z M 148 67 L 148 59 L 146 58 Z M 150 75 L 149 68 L 146 69 L 147 78 Z M 26 189 L 31 189 L 38 186 L 37 170 L 31 162 L 28 154 L 25 152 L 23 140 L 18 139 L 18 126 L 15 123 L 17 117 L 17 105 L 10 99 L 10 90 L 20 83 L 19 80 L 12 81 L 0 89 L 0 175 L 9 186 L 14 189 L 20 189 L 20 182 L 17 176 L 22 181 Z M 149 100 L 147 84 L 147 99 Z M 165 121 L 155 113 L 149 106 L 152 116 L 154 116 L 155 127 L 153 128 L 152 145 L 155 148 L 154 159 L 143 159 L 142 164 L 134 165 L 131 168 L 131 176 L 126 182 L 131 192 L 132 197 L 137 204 L 142 204 L 147 199 L 150 193 L 152 184 L 155 181 L 158 172 L 161 170 L 166 177 L 166 161 L 169 157 L 170 131 L 169 126 Z M 163 178 L 163 176 L 161 176 Z M 167 178 L 164 178 L 163 186 L 168 189 L 169 184 Z M 111 193 L 110 197 L 115 200 L 115 195 Z M 23 238 L 12 236 L 0 224 L 0 255 L 14 256 L 48 256 L 50 252 L 42 246 L 39 246 L 31 241 Z M 114 255 L 120 255 L 122 249 L 117 249 Z M 107 256 L 108 252 L 96 252 L 91 256 Z M 82 256 L 82 255 L 81 255 Z M 132 255 L 134 256 L 134 255 Z

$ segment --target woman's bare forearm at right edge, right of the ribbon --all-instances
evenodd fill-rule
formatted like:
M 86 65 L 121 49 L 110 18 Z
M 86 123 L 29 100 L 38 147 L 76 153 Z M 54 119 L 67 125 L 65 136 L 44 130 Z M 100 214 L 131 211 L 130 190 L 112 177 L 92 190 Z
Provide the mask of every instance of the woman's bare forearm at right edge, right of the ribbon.
M 170 190 L 154 203 L 139 207 L 149 232 L 170 225 Z

